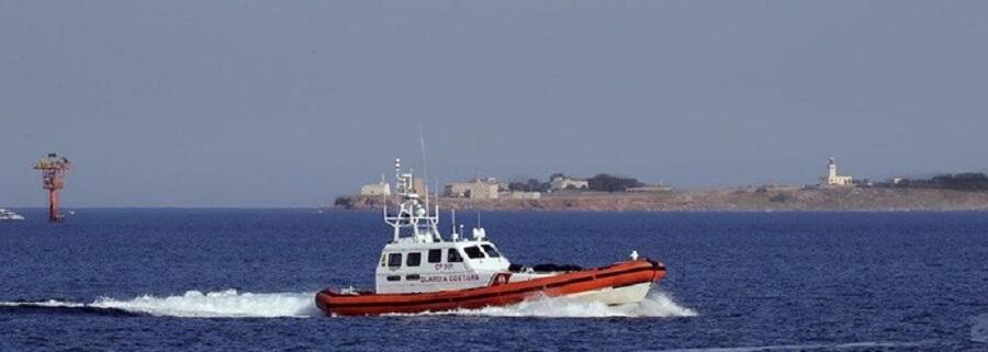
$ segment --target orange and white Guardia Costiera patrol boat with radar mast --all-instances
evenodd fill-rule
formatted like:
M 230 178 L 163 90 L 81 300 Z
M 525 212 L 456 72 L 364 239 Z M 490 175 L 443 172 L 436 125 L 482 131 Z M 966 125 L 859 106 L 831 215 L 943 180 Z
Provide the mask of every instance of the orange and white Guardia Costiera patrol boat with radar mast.
M 483 228 L 472 238 L 452 226 L 449 239 L 439 234 L 439 207 L 429 208 L 413 188 L 412 173 L 395 160 L 396 213 L 383 207 L 393 229 L 378 261 L 374 291 L 326 288 L 316 305 L 326 315 L 381 315 L 473 309 L 520 303 L 537 296 L 572 296 L 608 305 L 638 303 L 652 283 L 665 277 L 665 266 L 631 253 L 608 266 L 512 264 L 487 239 Z M 453 219 L 456 215 L 453 215 Z M 453 220 L 456 223 L 456 220 Z

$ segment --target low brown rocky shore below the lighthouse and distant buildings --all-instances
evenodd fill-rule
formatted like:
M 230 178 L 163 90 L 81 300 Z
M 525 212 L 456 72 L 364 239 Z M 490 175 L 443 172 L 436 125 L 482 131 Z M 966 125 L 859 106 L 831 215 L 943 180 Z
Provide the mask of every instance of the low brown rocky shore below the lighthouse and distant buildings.
M 988 192 L 889 188 L 739 188 L 662 193 L 553 193 L 539 200 L 439 198 L 444 209 L 650 212 L 946 212 L 988 211 Z M 380 197 L 335 207 L 375 209 Z M 435 200 L 434 200 L 435 202 Z M 389 203 L 391 203 L 389 201 Z M 434 203 L 435 204 L 435 203 Z

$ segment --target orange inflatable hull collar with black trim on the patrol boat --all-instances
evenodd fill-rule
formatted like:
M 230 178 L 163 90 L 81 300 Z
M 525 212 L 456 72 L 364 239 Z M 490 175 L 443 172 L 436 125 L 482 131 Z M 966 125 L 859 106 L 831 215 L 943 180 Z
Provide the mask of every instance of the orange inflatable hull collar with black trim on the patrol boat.
M 326 315 L 372 316 L 412 314 L 454 309 L 476 309 L 513 305 L 534 296 L 568 296 L 609 287 L 618 288 L 658 282 L 665 277 L 665 266 L 649 260 L 635 260 L 572 273 L 489 286 L 409 294 L 343 294 L 326 288 L 316 294 L 316 306 Z

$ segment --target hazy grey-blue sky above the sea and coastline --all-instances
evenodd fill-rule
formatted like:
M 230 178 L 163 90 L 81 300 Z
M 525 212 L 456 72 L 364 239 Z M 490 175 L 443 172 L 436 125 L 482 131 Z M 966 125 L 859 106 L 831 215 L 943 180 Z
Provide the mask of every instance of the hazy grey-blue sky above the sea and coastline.
M 988 1 L 0 0 L 0 206 L 49 150 L 69 207 L 330 204 L 419 122 L 439 182 L 983 171 L 986 63 Z

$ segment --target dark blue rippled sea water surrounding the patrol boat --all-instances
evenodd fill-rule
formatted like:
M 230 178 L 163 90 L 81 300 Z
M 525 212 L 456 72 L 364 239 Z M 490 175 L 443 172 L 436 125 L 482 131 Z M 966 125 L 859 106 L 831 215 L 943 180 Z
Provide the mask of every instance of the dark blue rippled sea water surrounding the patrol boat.
M 986 213 L 484 213 L 515 262 L 638 250 L 669 276 L 637 308 L 346 318 L 312 297 L 372 286 L 375 212 L 21 213 L 0 351 L 988 351 Z

